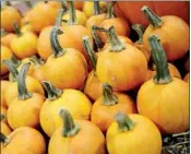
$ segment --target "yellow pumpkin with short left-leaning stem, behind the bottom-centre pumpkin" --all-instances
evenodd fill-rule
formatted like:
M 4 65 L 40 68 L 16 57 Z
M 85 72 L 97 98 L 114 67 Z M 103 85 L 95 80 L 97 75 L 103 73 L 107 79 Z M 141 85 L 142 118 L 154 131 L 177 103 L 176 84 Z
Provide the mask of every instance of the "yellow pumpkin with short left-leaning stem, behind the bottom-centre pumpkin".
M 49 82 L 43 83 L 48 98 L 40 110 L 40 125 L 48 137 L 51 137 L 62 125 L 58 115 L 61 107 L 68 109 L 75 119 L 89 119 L 92 104 L 82 92 L 71 88 L 62 92 Z

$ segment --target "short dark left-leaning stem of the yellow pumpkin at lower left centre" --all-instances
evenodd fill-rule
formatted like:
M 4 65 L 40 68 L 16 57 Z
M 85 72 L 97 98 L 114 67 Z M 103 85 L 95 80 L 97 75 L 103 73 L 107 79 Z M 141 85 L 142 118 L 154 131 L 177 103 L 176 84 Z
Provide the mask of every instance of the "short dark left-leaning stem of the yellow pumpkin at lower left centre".
M 49 81 L 43 81 L 43 85 L 47 91 L 49 102 L 58 99 L 63 93 L 62 90 L 55 87 Z

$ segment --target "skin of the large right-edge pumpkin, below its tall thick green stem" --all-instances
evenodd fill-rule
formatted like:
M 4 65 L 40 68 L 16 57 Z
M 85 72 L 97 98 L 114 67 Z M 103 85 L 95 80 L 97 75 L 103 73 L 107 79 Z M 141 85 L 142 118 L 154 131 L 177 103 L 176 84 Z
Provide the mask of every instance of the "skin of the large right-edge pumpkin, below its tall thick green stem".
M 145 82 L 139 91 L 136 105 L 139 114 L 154 121 L 163 133 L 189 129 L 189 85 L 180 79 L 172 78 L 168 84 Z

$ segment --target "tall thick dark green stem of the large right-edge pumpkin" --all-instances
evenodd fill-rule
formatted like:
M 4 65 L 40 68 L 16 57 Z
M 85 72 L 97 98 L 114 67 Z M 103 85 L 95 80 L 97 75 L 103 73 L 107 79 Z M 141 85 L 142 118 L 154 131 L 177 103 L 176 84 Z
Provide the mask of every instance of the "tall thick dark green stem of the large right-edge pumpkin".
M 169 73 L 166 54 L 160 45 L 159 38 L 152 35 L 148 37 L 148 43 L 151 46 L 152 58 L 156 64 L 156 75 L 154 76 L 154 82 L 156 84 L 167 84 L 171 82 L 172 78 Z

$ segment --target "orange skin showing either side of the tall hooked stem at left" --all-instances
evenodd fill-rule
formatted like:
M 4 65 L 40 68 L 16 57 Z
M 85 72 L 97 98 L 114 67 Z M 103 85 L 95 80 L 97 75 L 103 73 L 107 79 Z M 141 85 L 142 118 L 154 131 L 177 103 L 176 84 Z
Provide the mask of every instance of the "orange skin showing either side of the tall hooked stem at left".
M 45 95 L 44 87 L 39 81 L 27 75 L 26 88 L 32 93 Z M 11 83 L 4 92 L 5 104 L 9 107 L 11 103 L 17 97 L 17 82 Z

